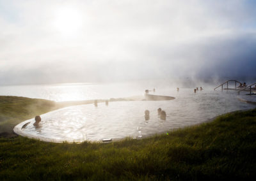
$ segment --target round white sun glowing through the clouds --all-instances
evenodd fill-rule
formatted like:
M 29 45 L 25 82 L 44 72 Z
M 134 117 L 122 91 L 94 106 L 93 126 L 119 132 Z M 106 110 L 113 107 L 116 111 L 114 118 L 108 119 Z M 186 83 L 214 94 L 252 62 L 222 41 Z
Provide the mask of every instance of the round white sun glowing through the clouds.
M 81 28 L 81 16 L 81 13 L 76 8 L 60 8 L 56 11 L 54 27 L 64 35 L 76 34 Z

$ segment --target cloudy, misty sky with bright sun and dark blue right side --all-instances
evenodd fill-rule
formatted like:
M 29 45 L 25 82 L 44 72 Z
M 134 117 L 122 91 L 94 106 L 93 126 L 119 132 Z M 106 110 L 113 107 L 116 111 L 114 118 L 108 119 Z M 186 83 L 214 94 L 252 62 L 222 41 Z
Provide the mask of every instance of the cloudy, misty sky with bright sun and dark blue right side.
M 256 1 L 0 0 L 0 85 L 256 77 Z

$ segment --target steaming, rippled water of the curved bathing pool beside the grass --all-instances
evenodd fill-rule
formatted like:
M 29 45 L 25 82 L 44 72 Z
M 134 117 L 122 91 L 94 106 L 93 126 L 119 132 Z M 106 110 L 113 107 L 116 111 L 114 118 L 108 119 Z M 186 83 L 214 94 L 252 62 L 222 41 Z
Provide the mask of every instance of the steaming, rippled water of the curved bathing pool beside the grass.
M 42 141 L 101 141 L 125 138 L 144 138 L 170 129 L 205 122 L 227 112 L 255 108 L 237 99 L 230 91 L 179 91 L 172 101 L 119 101 L 94 105 L 70 106 L 41 115 L 40 127 L 34 119 L 26 120 L 13 129 L 15 133 Z M 161 120 L 157 109 L 166 112 Z M 145 110 L 150 117 L 145 119 Z M 29 124 L 22 128 L 24 124 Z

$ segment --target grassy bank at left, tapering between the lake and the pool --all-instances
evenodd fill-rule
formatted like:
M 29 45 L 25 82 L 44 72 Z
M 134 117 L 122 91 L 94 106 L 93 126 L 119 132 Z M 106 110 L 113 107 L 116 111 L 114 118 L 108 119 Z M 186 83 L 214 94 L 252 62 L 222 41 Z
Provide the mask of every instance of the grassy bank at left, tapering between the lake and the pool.
M 131 98 L 111 98 L 109 101 L 138 101 L 142 99 L 142 96 L 134 96 Z M 99 99 L 97 101 L 102 103 L 106 100 Z M 36 115 L 67 106 L 92 103 L 94 103 L 94 100 L 54 102 L 45 99 L 0 96 L 0 136 L 7 138 L 15 136 L 13 127 L 24 120 L 34 118 Z

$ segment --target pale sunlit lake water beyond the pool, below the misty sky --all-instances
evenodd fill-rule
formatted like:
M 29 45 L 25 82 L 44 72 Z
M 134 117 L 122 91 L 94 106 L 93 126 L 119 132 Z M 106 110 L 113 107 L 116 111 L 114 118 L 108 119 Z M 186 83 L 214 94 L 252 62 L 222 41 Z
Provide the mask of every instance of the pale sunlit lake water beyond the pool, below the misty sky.
M 244 82 L 243 78 L 237 79 Z M 159 94 L 173 96 L 177 87 L 189 88 L 191 92 L 196 87 L 213 90 L 214 87 L 227 81 L 225 78 L 211 78 L 200 80 L 196 78 L 172 78 L 159 80 L 137 80 L 116 83 L 56 83 L 42 85 L 5 85 L 0 86 L 1 96 L 22 96 L 28 98 L 49 99 L 52 101 L 82 101 L 88 99 L 127 98 L 142 96 L 145 89 L 153 90 Z M 246 82 L 247 85 L 253 80 Z M 227 86 L 227 85 L 225 85 Z M 229 87 L 234 87 L 234 82 Z M 237 85 L 238 86 L 238 85 Z

